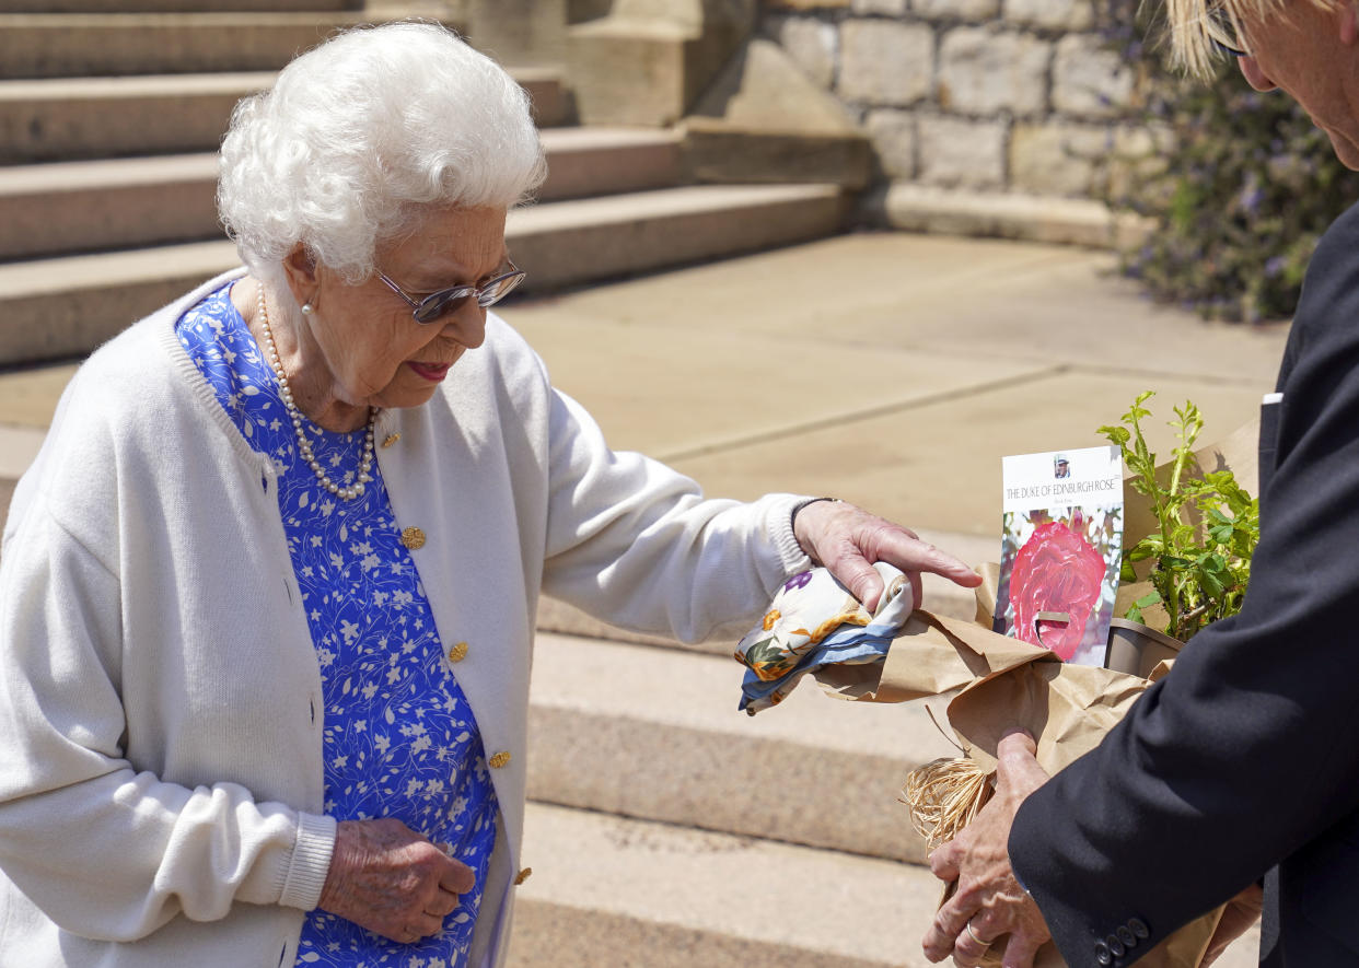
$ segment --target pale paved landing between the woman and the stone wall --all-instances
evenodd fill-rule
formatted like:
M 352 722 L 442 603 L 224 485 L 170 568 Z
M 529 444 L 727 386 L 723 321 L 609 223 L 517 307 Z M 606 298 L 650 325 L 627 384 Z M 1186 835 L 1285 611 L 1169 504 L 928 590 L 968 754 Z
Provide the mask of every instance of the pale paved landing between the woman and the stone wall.
M 519 303 L 506 318 L 616 447 L 712 494 L 836 494 L 995 536 L 1000 458 L 1091 447 L 1142 390 L 1203 443 L 1273 387 L 1283 324 L 1207 324 L 1112 277 L 1106 253 L 862 234 Z

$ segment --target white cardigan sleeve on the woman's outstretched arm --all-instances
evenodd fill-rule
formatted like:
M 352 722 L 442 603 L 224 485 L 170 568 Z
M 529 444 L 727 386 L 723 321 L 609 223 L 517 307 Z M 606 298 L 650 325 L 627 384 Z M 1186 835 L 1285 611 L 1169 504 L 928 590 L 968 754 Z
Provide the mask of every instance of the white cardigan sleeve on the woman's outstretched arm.
M 810 566 L 792 494 L 704 500 L 690 478 L 613 451 L 584 409 L 552 391 L 544 591 L 613 625 L 682 641 L 739 627 Z

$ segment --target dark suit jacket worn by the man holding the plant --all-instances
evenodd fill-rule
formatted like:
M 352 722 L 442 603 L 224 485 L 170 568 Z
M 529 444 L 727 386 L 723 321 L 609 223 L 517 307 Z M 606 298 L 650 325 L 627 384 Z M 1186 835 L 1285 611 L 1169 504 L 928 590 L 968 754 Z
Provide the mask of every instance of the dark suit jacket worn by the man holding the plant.
M 1241 614 L 1015 819 L 1072 968 L 1132 964 L 1276 865 L 1263 963 L 1359 965 L 1359 206 L 1313 257 L 1277 390 Z

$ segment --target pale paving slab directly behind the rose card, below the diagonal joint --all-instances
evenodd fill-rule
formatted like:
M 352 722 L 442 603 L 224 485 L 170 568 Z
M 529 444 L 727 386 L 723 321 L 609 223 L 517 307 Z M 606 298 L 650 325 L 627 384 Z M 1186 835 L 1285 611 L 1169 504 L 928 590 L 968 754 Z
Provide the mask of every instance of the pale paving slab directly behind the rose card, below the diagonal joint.
M 749 500 L 779 481 L 783 490 L 834 494 L 909 527 L 999 535 L 1003 455 L 1106 444 L 1095 429 L 1116 422 L 1143 390 L 1157 390 L 1144 430 L 1151 449 L 1169 456 L 1173 432 L 1159 417 L 1170 417 L 1173 402 L 1189 398 L 1203 409 L 1208 444 L 1254 417 L 1268 388 L 1070 369 L 671 463 L 713 494 Z

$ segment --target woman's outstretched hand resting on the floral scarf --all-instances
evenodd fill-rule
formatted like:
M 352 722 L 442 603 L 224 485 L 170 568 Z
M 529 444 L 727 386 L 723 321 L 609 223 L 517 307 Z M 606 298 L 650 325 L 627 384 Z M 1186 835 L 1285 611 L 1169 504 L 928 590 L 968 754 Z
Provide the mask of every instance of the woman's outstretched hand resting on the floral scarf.
M 920 573 L 942 574 L 964 588 L 976 588 L 981 576 L 965 563 L 920 540 L 915 531 L 893 524 L 844 501 L 809 504 L 792 521 L 802 550 L 825 565 L 870 612 L 882 597 L 882 577 L 872 562 L 883 561 L 905 572 L 912 601 L 920 604 Z

